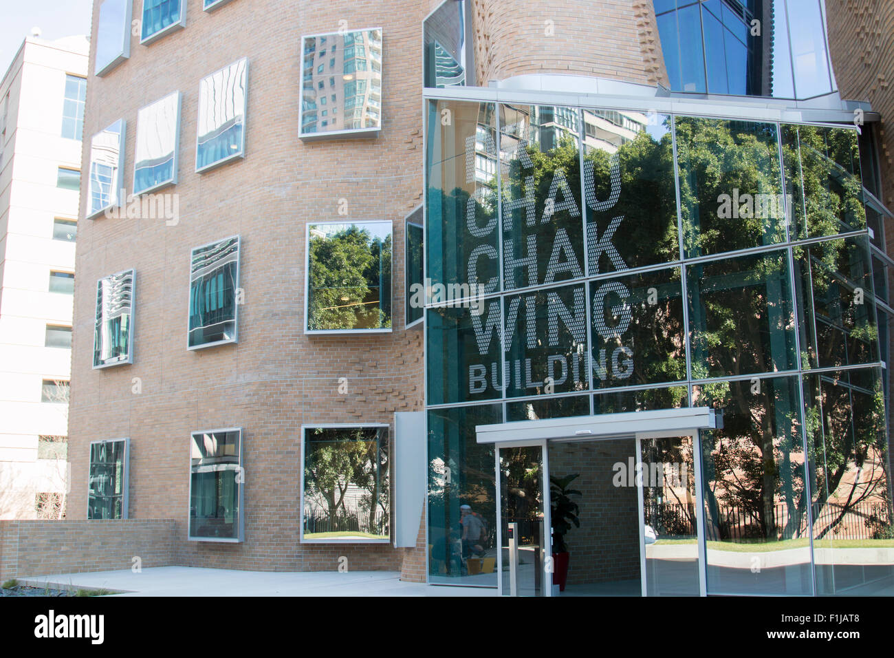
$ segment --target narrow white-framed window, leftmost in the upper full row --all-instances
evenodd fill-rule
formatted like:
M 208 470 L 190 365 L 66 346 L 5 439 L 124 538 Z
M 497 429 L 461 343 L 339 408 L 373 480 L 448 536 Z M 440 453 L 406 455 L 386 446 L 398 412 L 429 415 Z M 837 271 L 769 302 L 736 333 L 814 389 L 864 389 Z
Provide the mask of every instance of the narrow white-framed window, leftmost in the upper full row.
M 95 218 L 123 201 L 124 132 L 126 122 L 118 119 L 90 140 L 89 180 L 85 217 Z

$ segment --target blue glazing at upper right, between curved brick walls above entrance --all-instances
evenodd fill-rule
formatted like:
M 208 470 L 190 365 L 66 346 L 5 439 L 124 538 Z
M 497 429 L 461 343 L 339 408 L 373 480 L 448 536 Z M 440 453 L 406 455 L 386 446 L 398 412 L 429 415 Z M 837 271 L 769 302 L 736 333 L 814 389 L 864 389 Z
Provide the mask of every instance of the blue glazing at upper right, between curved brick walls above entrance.
M 654 0 L 671 90 L 814 98 L 836 90 L 822 0 Z

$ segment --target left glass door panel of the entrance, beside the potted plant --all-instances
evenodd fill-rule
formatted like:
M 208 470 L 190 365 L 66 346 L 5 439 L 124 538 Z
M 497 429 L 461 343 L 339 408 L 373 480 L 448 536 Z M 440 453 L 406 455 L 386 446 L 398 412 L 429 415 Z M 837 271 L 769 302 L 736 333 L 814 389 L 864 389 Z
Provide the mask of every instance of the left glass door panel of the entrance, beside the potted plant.
M 550 596 L 552 541 L 545 442 L 500 446 L 496 461 L 501 593 Z

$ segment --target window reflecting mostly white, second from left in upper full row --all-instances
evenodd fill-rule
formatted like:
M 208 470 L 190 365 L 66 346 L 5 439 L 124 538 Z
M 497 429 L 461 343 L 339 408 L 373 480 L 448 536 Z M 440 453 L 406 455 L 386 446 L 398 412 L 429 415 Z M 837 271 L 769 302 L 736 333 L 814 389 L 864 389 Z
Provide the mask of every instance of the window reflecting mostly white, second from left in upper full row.
M 134 194 L 155 192 L 177 183 L 180 103 L 180 91 L 174 91 L 137 113 L 137 144 L 133 154 Z

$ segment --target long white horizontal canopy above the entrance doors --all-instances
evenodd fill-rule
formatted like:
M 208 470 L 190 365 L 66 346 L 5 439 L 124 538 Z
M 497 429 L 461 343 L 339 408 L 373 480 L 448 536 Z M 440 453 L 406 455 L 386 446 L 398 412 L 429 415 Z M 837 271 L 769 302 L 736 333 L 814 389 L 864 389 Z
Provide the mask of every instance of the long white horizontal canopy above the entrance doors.
M 696 406 L 477 425 L 475 430 L 478 443 L 505 443 L 544 439 L 660 439 L 722 426 L 721 414 L 708 406 Z

